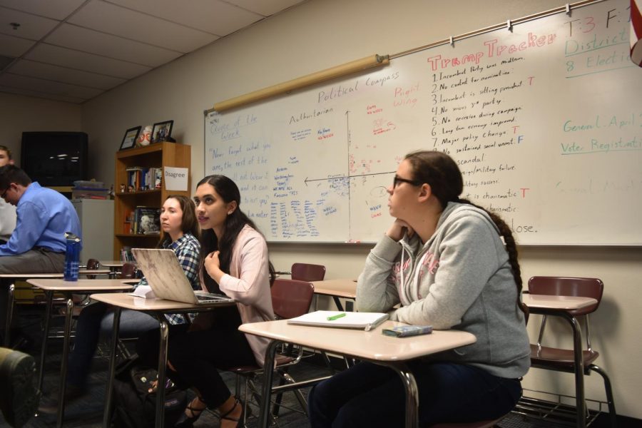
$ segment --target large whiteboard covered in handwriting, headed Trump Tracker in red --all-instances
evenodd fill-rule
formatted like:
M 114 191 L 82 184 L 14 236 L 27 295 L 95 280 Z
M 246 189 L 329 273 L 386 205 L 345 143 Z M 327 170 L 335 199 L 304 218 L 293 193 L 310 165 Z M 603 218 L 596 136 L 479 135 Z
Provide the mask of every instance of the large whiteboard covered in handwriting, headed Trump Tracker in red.
M 524 245 L 641 245 L 642 68 L 613 0 L 205 116 L 205 173 L 271 242 L 374 242 L 405 153 L 446 151 Z

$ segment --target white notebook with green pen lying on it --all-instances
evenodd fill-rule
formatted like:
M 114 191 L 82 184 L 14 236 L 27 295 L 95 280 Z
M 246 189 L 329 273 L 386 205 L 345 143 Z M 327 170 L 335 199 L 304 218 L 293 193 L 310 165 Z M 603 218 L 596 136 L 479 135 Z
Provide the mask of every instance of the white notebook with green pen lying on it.
M 345 314 L 345 315 L 342 315 Z M 338 316 L 338 317 L 337 317 Z M 388 319 L 382 312 L 340 312 L 317 310 L 300 317 L 290 318 L 287 324 L 312 325 L 316 327 L 355 328 L 370 331 Z

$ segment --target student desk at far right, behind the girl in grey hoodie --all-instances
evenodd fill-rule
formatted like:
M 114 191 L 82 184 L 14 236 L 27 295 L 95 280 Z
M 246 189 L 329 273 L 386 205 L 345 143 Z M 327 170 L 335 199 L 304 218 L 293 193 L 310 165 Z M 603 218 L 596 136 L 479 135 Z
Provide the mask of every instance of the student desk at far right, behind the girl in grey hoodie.
M 562 317 L 573 329 L 573 350 L 575 356 L 575 396 L 577 427 L 586 427 L 586 402 L 584 401 L 584 360 L 582 359 L 582 332 L 576 318 L 569 310 L 581 309 L 595 305 L 597 300 L 591 297 L 533 295 L 524 293 L 522 302 L 529 307 L 531 314 Z

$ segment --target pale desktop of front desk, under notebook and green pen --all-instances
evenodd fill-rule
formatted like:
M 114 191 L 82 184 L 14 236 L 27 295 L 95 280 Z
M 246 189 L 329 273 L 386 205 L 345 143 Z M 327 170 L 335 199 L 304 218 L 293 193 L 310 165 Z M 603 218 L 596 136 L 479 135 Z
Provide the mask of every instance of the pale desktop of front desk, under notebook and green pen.
M 430 335 L 413 337 L 382 335 L 382 329 L 395 325 L 404 324 L 386 321 L 376 329 L 365 332 L 346 328 L 290 325 L 287 320 L 278 320 L 243 324 L 239 330 L 250 335 L 374 361 L 412 360 L 469 345 L 477 340 L 471 333 L 457 330 L 436 330 Z

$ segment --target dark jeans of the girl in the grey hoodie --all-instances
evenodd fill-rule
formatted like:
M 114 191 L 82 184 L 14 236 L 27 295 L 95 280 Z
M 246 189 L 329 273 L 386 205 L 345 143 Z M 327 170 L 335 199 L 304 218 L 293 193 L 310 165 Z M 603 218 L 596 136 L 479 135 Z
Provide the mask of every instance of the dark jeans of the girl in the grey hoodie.
M 469 365 L 414 361 L 419 424 L 474 422 L 508 413 L 521 397 L 519 379 L 504 379 Z M 361 362 L 317 384 L 307 397 L 318 427 L 402 427 L 405 392 L 399 374 Z

